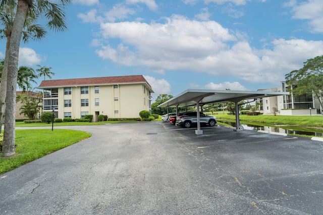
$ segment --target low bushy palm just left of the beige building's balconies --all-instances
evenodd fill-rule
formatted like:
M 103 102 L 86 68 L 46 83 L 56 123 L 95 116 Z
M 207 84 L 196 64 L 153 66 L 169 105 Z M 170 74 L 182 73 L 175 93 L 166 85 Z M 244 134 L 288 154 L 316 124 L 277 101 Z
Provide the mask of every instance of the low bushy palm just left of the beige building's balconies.
M 29 95 L 29 94 L 32 95 Z M 42 106 L 42 94 L 38 93 L 32 93 L 32 92 L 24 92 L 17 96 L 17 101 L 22 102 L 22 106 L 20 108 L 20 114 L 24 114 L 28 117 L 28 119 L 35 119 L 37 114 L 39 113 L 39 108 Z

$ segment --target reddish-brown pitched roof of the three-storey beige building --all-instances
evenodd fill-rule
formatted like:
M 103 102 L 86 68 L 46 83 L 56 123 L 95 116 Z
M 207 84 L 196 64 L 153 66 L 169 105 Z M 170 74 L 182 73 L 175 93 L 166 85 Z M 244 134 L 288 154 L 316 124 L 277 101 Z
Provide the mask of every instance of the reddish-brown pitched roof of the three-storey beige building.
M 115 76 L 115 77 L 98 77 L 98 78 L 82 78 L 82 79 L 61 79 L 61 80 L 45 80 L 39 85 L 39 89 L 52 87 L 69 87 L 69 86 L 93 86 L 93 85 L 114 85 L 114 84 L 135 84 L 146 83 L 151 86 L 142 75 L 138 76 Z

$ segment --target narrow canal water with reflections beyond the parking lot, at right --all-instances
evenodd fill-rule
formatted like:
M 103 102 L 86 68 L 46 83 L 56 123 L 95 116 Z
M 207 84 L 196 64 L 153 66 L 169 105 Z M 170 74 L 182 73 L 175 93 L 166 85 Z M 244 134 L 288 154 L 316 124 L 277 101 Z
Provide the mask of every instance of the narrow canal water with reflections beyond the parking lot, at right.
M 218 120 L 218 122 L 225 123 L 227 125 L 236 126 L 235 122 L 227 122 Z M 296 127 L 296 126 L 295 126 Z M 241 129 L 245 130 L 264 130 L 264 131 L 272 131 L 272 132 L 279 132 L 279 133 L 287 133 L 287 134 L 302 134 L 302 135 L 309 135 L 309 136 L 323 136 L 323 132 L 310 132 L 310 131 L 301 131 L 296 129 L 284 129 L 281 127 L 271 127 L 271 126 L 258 126 L 258 125 L 251 125 L 251 124 L 240 124 Z

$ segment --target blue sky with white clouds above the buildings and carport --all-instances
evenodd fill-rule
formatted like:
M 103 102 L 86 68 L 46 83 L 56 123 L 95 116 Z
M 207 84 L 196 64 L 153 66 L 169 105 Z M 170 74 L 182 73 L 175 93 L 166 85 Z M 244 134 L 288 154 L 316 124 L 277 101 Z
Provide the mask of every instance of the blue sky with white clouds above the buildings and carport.
M 280 87 L 323 55 L 321 0 L 74 0 L 66 22 L 64 32 L 22 42 L 19 66 L 51 67 L 53 79 L 143 75 L 152 100 Z

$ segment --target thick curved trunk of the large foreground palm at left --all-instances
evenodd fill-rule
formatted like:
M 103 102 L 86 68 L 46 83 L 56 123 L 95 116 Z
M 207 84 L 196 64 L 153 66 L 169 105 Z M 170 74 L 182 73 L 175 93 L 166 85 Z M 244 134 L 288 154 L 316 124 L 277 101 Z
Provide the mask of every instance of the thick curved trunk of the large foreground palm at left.
M 6 117 L 3 143 L 3 156 L 15 154 L 15 119 L 16 119 L 16 89 L 18 75 L 18 56 L 22 30 L 27 16 L 27 11 L 32 0 L 18 0 L 17 12 L 13 23 L 9 44 Z

